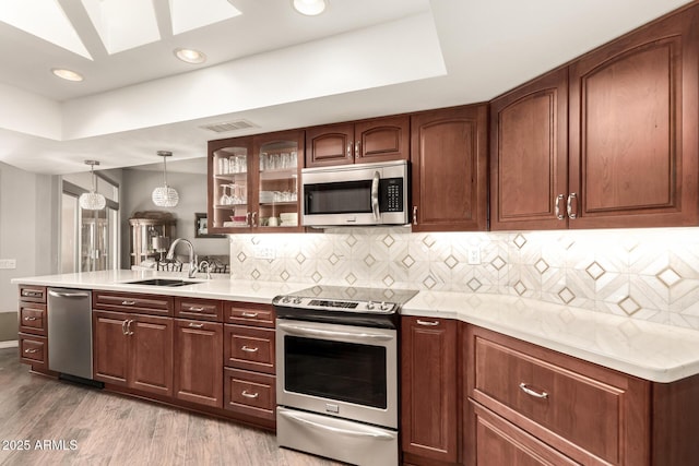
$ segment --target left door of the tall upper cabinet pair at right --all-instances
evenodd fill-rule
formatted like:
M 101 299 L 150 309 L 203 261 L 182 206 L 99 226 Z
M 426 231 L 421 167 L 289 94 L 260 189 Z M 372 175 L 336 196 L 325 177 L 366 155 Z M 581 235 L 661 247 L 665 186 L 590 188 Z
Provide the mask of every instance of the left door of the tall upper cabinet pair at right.
M 566 228 L 568 68 L 490 103 L 490 229 Z

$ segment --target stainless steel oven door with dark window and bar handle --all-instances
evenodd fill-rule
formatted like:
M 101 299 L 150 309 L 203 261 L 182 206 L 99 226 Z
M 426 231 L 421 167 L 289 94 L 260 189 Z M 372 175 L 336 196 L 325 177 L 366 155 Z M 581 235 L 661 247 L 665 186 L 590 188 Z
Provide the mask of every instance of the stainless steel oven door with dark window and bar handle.
M 281 406 L 398 429 L 398 332 L 277 319 Z

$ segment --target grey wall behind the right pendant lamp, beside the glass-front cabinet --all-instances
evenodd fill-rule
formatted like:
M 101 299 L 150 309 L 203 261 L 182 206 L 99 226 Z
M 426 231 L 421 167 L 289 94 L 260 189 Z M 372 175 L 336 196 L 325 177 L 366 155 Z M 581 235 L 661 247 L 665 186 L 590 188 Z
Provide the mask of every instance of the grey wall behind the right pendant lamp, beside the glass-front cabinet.
M 202 158 L 205 170 L 206 159 Z M 169 168 L 170 164 L 168 164 Z M 194 213 L 206 212 L 206 175 L 191 172 L 167 172 L 167 183 L 179 193 L 179 203 L 174 208 L 156 207 L 151 200 L 151 193 L 157 186 L 163 184 L 163 172 L 157 170 L 144 170 L 128 168 L 123 170 L 122 178 L 122 204 L 121 210 L 121 268 L 130 266 L 130 228 L 129 218 L 135 212 L 166 211 L 177 217 L 176 237 L 187 238 L 194 246 L 194 251 L 202 255 L 228 254 L 228 240 L 226 238 L 194 238 Z M 186 248 L 178 247 L 178 254 L 185 254 Z

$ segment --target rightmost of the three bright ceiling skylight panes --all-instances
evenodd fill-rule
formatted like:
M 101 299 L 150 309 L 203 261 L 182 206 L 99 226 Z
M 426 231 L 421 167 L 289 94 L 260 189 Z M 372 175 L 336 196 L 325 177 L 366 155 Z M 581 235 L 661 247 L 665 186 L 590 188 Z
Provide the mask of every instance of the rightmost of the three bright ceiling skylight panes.
M 169 0 L 173 34 L 181 34 L 242 14 L 227 0 Z

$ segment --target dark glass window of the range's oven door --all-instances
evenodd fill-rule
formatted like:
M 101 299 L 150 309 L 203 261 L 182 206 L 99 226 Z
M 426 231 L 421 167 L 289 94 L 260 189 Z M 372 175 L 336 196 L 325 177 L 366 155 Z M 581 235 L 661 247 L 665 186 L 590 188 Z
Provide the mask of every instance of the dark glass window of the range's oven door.
M 297 336 L 284 346 L 287 392 L 386 409 L 384 347 Z

